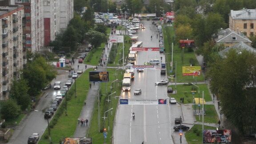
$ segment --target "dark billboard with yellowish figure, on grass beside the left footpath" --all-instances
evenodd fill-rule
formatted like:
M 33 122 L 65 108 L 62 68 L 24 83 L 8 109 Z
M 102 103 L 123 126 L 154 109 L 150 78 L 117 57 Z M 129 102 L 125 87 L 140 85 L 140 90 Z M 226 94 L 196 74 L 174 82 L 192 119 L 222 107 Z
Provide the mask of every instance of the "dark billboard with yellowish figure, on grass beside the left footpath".
M 108 72 L 89 72 L 89 81 L 108 82 Z

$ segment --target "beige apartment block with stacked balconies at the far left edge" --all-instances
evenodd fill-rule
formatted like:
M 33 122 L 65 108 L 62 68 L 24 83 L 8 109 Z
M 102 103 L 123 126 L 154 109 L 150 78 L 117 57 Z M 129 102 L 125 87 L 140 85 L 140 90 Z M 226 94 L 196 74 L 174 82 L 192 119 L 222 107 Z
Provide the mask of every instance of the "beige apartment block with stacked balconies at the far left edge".
M 0 100 L 8 99 L 12 79 L 26 63 L 22 48 L 23 5 L 0 1 Z

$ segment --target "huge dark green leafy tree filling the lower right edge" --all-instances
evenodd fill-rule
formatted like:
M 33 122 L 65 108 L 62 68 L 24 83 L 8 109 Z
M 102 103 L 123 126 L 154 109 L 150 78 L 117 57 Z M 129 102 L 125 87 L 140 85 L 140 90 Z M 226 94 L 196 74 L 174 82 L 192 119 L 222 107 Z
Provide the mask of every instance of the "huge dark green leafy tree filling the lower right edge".
M 242 133 L 255 129 L 256 54 L 231 49 L 213 62 L 208 74 L 227 119 Z

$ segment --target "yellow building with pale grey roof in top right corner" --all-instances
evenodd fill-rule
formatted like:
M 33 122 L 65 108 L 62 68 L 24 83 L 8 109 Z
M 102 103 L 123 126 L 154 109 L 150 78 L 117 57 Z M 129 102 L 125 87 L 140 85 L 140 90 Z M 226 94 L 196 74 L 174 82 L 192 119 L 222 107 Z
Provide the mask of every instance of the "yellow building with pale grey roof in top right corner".
M 247 37 L 256 35 L 256 9 L 231 10 L 229 28 L 233 31 L 243 32 Z

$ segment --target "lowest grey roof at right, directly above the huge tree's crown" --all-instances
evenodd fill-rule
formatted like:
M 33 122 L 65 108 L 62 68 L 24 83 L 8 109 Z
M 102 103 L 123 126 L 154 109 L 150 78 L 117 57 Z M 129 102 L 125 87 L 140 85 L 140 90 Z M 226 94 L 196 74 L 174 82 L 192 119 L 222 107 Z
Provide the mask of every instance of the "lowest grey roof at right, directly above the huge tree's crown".
M 238 44 L 235 44 L 234 46 L 232 47 L 229 47 L 229 48 L 226 48 L 222 51 L 219 52 L 219 55 L 220 56 L 225 56 L 226 53 L 230 50 L 230 49 L 237 49 L 237 50 L 247 50 L 247 51 L 250 51 L 250 52 L 255 52 L 256 53 L 256 49 L 255 48 L 252 48 L 250 46 L 248 46 L 247 44 L 244 44 L 244 42 L 240 42 Z

